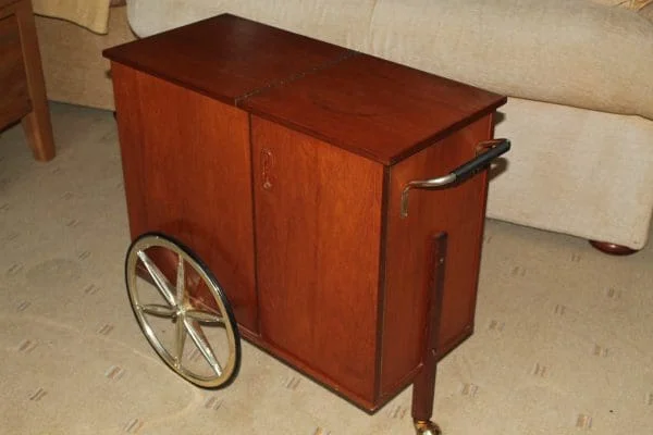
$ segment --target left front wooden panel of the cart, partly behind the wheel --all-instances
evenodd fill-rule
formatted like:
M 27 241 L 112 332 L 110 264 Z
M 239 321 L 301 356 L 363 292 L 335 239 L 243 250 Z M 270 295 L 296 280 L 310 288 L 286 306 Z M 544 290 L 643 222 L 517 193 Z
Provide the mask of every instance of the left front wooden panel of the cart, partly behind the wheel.
M 247 113 L 115 62 L 111 74 L 132 238 L 186 244 L 257 332 Z

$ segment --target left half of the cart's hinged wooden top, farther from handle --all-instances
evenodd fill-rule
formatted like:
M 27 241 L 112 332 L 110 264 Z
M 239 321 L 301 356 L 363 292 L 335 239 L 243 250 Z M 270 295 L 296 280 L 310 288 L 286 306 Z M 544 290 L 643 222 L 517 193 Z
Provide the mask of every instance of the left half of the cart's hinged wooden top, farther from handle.
M 230 104 L 349 50 L 230 14 L 107 49 L 106 58 Z

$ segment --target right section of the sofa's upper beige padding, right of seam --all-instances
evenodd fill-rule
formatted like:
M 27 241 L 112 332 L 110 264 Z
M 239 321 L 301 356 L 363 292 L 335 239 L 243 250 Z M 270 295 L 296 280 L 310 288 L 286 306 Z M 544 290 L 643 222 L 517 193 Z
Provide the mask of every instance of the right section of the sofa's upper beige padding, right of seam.
M 380 1 L 371 51 L 531 100 L 653 119 L 653 24 L 591 1 Z

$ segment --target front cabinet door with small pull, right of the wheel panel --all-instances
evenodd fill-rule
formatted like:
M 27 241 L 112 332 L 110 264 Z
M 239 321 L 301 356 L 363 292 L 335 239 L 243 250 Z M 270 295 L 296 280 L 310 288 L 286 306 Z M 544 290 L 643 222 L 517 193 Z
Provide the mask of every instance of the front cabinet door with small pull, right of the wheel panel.
M 383 166 L 261 119 L 251 125 L 261 336 L 369 407 Z

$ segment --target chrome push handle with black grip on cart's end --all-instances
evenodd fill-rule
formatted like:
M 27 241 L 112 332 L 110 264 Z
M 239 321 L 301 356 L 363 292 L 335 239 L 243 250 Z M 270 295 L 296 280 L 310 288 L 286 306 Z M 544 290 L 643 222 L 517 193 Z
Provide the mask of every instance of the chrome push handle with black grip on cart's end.
M 404 190 L 402 190 L 402 217 L 408 216 L 408 191 L 410 189 L 436 189 L 459 184 L 484 170 L 494 159 L 507 152 L 510 149 L 510 141 L 508 139 L 492 139 L 480 142 L 477 149 L 488 151 L 478 154 L 476 158 L 456 167 L 447 175 L 438 178 L 409 182 L 404 187 Z

